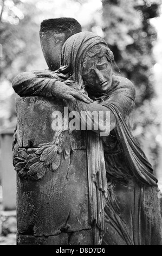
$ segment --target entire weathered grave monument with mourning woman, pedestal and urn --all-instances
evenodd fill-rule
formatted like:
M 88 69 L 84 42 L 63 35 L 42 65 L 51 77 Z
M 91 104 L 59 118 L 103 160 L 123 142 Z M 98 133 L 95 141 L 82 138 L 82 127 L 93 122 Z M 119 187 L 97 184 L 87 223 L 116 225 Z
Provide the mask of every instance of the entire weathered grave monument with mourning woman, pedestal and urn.
M 42 22 L 41 42 L 49 70 L 13 81 L 18 245 L 161 245 L 157 179 L 127 125 L 133 84 L 73 19 Z

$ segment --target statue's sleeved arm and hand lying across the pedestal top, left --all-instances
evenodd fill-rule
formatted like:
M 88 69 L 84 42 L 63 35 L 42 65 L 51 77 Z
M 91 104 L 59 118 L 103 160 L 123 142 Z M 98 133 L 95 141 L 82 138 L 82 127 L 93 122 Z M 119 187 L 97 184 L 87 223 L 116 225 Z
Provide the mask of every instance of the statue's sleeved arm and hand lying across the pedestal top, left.
M 67 86 L 55 72 L 50 71 L 23 72 L 14 78 L 12 87 L 20 96 L 43 96 L 71 100 L 73 103 L 75 99 L 92 102 L 86 94 Z

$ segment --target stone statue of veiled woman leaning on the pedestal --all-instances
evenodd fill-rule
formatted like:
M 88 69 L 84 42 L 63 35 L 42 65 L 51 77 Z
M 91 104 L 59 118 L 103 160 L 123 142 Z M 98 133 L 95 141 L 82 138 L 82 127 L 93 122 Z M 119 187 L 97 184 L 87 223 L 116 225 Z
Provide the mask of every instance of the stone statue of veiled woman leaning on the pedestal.
M 80 114 L 110 113 L 110 133 L 100 137 L 107 178 L 102 245 L 161 245 L 157 179 L 127 125 L 134 86 L 113 72 L 113 63 L 113 53 L 100 36 L 80 32 L 64 42 L 59 69 L 24 72 L 13 88 L 20 96 L 63 99 Z

